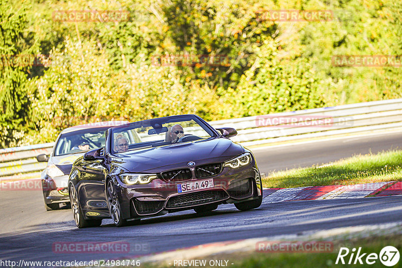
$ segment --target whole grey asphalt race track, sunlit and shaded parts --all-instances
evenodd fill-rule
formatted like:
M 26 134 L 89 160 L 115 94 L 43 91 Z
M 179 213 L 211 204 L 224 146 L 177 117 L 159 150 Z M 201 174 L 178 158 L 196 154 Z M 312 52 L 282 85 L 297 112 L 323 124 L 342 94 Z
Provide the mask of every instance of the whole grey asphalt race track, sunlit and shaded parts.
M 253 150 L 261 172 L 330 162 L 353 154 L 402 147 L 400 134 Z M 115 227 L 104 220 L 96 228 L 75 227 L 70 209 L 46 212 L 42 192 L 0 191 L 0 258 L 24 260 L 91 260 L 125 258 L 225 240 L 281 234 L 297 235 L 338 227 L 402 221 L 402 196 L 267 203 L 240 212 L 234 205 L 200 216 L 191 211 Z M 130 252 L 60 253 L 55 245 L 68 242 L 130 244 Z

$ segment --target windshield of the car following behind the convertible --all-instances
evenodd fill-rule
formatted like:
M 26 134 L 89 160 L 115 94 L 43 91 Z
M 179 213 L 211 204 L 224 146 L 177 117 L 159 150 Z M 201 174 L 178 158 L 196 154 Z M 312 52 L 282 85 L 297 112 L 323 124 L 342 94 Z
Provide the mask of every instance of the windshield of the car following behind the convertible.
M 105 147 L 105 130 L 108 128 L 110 126 L 81 129 L 62 134 L 57 142 L 54 156 L 76 154 Z

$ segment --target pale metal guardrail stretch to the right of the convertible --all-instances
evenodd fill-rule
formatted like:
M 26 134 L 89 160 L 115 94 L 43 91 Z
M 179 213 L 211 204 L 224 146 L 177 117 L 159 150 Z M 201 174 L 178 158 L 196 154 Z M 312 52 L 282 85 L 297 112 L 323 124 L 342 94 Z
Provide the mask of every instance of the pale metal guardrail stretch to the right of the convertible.
M 234 127 L 232 141 L 253 146 L 280 141 L 402 127 L 402 98 L 211 122 Z

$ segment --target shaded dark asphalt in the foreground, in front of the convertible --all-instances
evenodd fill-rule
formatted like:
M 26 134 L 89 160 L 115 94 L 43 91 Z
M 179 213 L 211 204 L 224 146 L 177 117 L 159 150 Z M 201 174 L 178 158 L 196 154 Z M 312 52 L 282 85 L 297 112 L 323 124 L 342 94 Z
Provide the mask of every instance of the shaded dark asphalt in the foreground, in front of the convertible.
M 1 234 L 0 247 L 3 250 L 0 251 L 0 258 L 65 260 L 73 257 L 85 260 L 101 256 L 122 257 L 121 253 L 60 254 L 53 251 L 56 242 L 126 241 L 133 246 L 140 242 L 149 246 L 149 252 L 146 253 L 153 253 L 217 241 L 315 233 L 350 226 L 375 226 L 402 221 L 401 198 L 289 201 L 244 212 L 223 209 L 206 215 L 187 212 L 162 216 L 145 219 L 138 226 L 122 228 L 110 228 L 114 225 L 107 223 L 100 227 L 78 229 L 72 219 L 55 220 L 52 228 L 43 223 L 33 225 L 35 230 L 28 227 Z

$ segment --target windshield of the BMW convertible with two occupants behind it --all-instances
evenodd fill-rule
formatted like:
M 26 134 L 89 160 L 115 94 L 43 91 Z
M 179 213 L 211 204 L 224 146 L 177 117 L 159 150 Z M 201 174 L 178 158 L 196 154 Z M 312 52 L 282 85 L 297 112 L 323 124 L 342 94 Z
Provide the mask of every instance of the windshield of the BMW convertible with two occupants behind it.
M 115 128 L 111 134 L 113 153 L 198 142 L 216 137 L 216 134 L 195 116 L 172 116 L 140 121 Z

